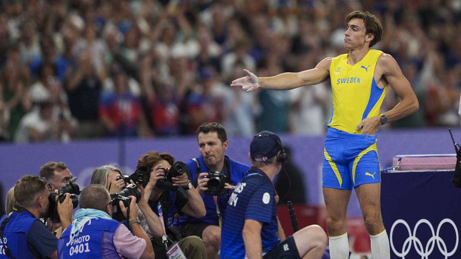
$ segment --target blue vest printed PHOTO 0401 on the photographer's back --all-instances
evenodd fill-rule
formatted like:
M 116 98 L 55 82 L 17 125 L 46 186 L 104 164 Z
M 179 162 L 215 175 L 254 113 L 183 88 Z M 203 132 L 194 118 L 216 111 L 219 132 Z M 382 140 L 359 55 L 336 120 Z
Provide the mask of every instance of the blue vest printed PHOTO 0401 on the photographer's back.
M 59 259 L 120 259 L 113 242 L 113 235 L 120 223 L 113 219 L 92 219 L 85 223 L 83 231 L 70 240 L 71 226 L 66 228 L 58 241 Z

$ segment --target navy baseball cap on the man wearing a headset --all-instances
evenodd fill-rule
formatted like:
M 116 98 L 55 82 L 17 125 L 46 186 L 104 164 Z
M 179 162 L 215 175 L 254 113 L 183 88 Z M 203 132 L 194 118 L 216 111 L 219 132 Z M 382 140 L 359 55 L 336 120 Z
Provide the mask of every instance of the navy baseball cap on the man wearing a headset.
M 262 131 L 254 135 L 250 144 L 250 155 L 253 161 L 262 162 L 277 155 L 282 151 L 283 144 L 277 134 L 270 131 Z

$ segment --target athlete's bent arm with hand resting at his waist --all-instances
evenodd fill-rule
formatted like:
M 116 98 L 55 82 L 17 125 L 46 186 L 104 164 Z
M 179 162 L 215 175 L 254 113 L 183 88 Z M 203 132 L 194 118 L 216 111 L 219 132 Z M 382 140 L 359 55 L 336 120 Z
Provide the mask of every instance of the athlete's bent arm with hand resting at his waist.
M 408 80 L 403 76 L 396 60 L 388 54 L 383 54 L 378 58 L 376 66 L 383 68 L 384 78 L 398 97 L 402 99 L 394 109 L 384 113 L 387 121 L 397 121 L 417 111 L 420 107 L 418 98 L 416 98 Z M 378 131 L 378 126 L 380 125 L 381 116 L 376 115 L 361 121 L 356 130 L 363 126 L 362 134 L 373 135 Z

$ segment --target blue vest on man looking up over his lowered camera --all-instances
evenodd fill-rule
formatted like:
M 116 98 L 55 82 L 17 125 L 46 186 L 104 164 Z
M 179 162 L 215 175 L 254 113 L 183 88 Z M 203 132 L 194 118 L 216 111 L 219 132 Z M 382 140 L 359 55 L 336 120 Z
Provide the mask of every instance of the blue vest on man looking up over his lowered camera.
M 243 178 L 245 178 L 245 176 L 247 175 L 247 172 L 250 169 L 250 167 L 248 167 L 247 165 L 244 165 L 244 164 L 242 164 L 240 162 L 237 162 L 235 160 L 232 160 L 232 159 L 228 158 L 227 156 L 225 156 L 225 157 L 227 159 L 229 159 L 229 174 L 231 176 L 231 184 L 235 186 L 240 181 L 242 181 Z M 210 172 L 207 165 L 205 164 L 205 161 L 203 161 L 203 158 L 202 158 L 201 155 L 197 156 L 195 159 L 200 164 L 200 172 L 198 172 L 199 174 L 200 173 L 205 173 L 205 172 L 212 173 L 212 172 Z M 197 175 L 196 175 L 196 173 L 197 173 L 197 164 L 195 163 L 195 161 L 193 161 L 191 159 L 191 160 L 187 161 L 186 165 L 189 167 L 189 171 L 190 171 L 190 174 L 191 174 L 189 176 L 189 179 L 192 181 L 192 184 L 194 184 L 194 186 L 197 186 L 197 180 L 196 180 L 197 179 Z M 224 165 L 224 166 L 226 166 L 226 165 Z M 224 173 L 224 168 L 223 168 L 223 171 L 221 173 Z M 231 193 L 231 191 L 229 193 Z M 219 225 L 219 218 L 218 218 L 218 214 L 216 212 L 216 203 L 213 200 L 213 196 L 203 194 L 201 197 L 203 199 L 203 203 L 205 204 L 205 209 L 207 210 L 207 214 L 205 215 L 205 217 L 200 218 L 200 219 L 196 219 L 196 218 L 194 218 L 192 216 L 184 215 L 184 216 L 179 218 L 179 225 L 180 226 L 182 226 L 183 224 L 195 224 L 195 223 L 206 223 L 206 224 L 212 224 L 212 225 Z M 222 216 L 224 216 L 228 200 L 229 200 L 229 198 L 228 198 L 227 195 L 218 197 L 219 209 L 221 211 Z

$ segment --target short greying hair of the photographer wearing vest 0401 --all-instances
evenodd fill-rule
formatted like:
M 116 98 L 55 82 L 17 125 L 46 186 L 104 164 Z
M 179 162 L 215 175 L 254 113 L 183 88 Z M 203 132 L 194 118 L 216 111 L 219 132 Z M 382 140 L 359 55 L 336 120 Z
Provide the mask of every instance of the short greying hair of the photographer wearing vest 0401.
M 97 198 L 95 199 L 95 197 Z M 111 197 L 106 186 L 100 184 L 88 185 L 78 196 L 78 203 L 82 209 L 97 209 L 105 212 L 110 201 Z

